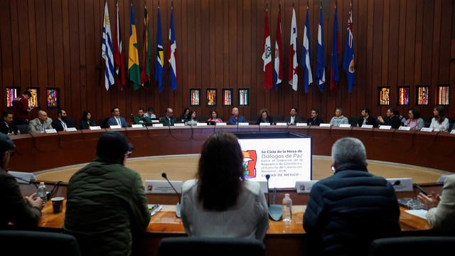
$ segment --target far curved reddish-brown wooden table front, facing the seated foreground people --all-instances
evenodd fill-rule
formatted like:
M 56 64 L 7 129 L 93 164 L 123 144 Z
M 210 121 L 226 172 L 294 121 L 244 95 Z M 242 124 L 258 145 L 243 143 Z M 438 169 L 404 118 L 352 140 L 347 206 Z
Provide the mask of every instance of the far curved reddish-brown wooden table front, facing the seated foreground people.
M 101 130 L 77 130 L 54 134 L 22 134 L 11 137 L 16 153 L 9 169 L 36 172 L 61 166 L 83 164 L 96 153 Z M 365 129 L 359 127 L 296 126 L 197 126 L 143 127 L 115 129 L 134 144 L 134 157 L 199 154 L 208 134 L 216 130 L 229 132 L 291 131 L 311 137 L 312 154 L 330 156 L 333 142 L 342 137 L 356 137 L 366 147 L 368 159 L 422 166 L 455 172 L 455 134 L 448 132 L 403 131 L 398 129 Z

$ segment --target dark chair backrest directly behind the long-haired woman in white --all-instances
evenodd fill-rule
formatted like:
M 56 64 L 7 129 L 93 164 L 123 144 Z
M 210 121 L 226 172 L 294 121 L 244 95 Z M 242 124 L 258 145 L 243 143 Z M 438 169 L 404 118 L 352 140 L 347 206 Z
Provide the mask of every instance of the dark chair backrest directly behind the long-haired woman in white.
M 247 238 L 163 238 L 158 255 L 264 256 L 265 245 L 260 240 Z

